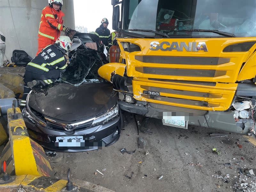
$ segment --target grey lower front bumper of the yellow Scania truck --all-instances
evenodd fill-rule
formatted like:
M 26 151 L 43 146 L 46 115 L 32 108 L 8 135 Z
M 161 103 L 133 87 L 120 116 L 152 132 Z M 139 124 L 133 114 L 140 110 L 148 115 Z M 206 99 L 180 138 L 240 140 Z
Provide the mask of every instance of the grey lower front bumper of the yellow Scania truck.
M 137 101 L 135 104 L 119 101 L 120 109 L 150 118 L 163 119 L 163 113 L 173 113 L 186 117 L 188 125 L 215 128 L 238 134 L 248 134 L 252 119 L 239 119 L 235 121 L 234 111 L 203 111 L 181 107 L 168 106 L 163 104 L 147 103 Z

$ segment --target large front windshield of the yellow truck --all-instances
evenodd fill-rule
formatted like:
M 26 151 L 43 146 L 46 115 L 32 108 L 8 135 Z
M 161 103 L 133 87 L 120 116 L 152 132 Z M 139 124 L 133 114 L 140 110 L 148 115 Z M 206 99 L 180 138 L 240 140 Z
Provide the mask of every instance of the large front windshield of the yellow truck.
M 123 29 L 153 30 L 181 37 L 223 37 L 211 32 L 218 30 L 236 37 L 252 37 L 256 36 L 256 1 L 124 0 Z M 156 35 L 134 30 L 132 33 Z

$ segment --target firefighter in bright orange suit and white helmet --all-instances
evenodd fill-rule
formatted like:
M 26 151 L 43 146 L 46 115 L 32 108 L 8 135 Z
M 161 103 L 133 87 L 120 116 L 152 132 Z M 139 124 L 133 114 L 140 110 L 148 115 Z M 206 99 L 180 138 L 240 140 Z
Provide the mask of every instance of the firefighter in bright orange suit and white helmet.
M 36 56 L 48 45 L 52 45 L 64 31 L 68 34 L 71 29 L 63 25 L 65 14 L 61 11 L 62 0 L 50 0 L 49 6 L 42 11 L 38 31 L 38 52 Z

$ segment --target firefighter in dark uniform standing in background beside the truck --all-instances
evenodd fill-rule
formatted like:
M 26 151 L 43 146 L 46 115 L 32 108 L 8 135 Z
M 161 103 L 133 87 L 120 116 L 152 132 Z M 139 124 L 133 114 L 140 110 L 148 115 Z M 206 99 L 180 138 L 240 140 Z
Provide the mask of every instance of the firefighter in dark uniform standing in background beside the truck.
M 95 34 L 99 36 L 100 41 L 106 46 L 107 50 L 112 46 L 111 34 L 108 27 L 108 19 L 103 18 L 101 25 L 95 31 Z

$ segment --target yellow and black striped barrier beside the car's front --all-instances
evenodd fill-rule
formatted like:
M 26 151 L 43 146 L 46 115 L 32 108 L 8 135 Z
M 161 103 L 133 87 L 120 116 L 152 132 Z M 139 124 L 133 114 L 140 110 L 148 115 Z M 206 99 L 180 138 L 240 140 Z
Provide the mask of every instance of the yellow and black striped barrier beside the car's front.
M 13 162 L 14 166 L 8 166 L 7 172 L 15 175 L 39 175 L 53 176 L 50 163 L 46 159 L 44 149 L 28 136 L 28 131 L 21 116 L 20 108 L 7 110 L 9 142 L 4 149 L 0 162 L 5 160 L 7 165 Z M 11 148 L 11 149 L 10 149 Z

